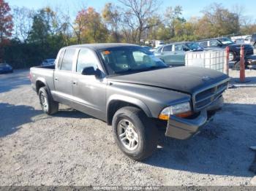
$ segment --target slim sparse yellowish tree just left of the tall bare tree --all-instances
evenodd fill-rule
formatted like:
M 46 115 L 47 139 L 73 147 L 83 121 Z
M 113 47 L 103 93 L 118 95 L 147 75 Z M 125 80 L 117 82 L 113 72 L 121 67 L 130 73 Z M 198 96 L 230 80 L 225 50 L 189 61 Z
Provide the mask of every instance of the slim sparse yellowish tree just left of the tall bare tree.
M 120 35 L 118 34 L 118 24 L 121 21 L 120 13 L 118 12 L 118 7 L 112 3 L 105 4 L 102 10 L 102 17 L 110 28 L 110 42 L 120 42 Z

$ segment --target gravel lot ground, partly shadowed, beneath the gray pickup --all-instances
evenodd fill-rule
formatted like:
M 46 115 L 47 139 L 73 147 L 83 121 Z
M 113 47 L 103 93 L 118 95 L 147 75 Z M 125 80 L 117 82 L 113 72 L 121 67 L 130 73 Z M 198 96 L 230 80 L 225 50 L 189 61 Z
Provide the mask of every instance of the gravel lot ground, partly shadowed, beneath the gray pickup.
M 42 114 L 27 75 L 0 75 L 0 185 L 250 185 L 256 87 L 227 90 L 222 112 L 199 135 L 162 137 L 162 148 L 138 163 L 105 122 L 67 106 Z M 256 71 L 246 75 L 255 80 Z

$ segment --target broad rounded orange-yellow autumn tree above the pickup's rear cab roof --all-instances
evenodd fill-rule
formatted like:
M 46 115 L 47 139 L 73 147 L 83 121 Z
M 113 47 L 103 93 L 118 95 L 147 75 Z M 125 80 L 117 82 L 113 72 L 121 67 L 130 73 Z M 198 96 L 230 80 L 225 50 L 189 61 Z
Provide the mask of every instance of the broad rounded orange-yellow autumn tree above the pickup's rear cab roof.
M 75 29 L 80 43 L 105 42 L 108 37 L 108 29 L 102 23 L 99 13 L 92 7 L 78 12 Z

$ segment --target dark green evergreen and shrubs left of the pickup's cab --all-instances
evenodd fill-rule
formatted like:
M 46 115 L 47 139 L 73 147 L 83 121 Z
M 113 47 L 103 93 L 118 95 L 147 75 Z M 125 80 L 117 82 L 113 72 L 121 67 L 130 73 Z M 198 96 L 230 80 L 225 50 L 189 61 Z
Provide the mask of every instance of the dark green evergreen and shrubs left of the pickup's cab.
M 56 31 L 54 12 L 50 8 L 40 9 L 33 17 L 33 24 L 27 42 L 12 39 L 4 47 L 4 61 L 16 69 L 38 66 L 45 58 L 56 58 L 66 44 L 64 34 Z

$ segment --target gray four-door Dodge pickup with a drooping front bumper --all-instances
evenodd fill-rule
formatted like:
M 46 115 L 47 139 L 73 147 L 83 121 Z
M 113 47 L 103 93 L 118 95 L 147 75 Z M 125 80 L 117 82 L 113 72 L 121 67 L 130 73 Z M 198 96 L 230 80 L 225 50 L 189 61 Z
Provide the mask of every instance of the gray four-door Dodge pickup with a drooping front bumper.
M 162 129 L 175 139 L 199 132 L 222 107 L 230 80 L 210 69 L 170 68 L 134 44 L 64 47 L 55 66 L 33 67 L 30 77 L 43 112 L 61 103 L 104 120 L 133 160 L 157 149 Z

